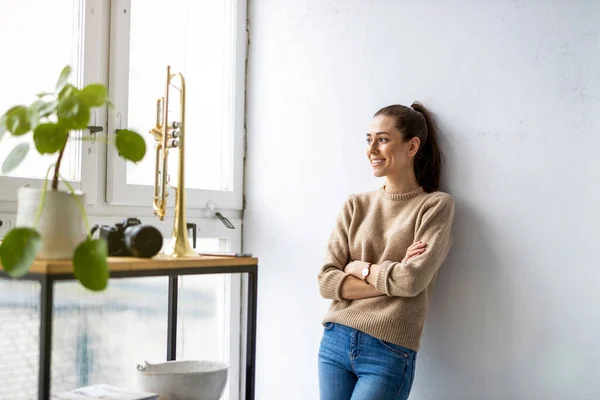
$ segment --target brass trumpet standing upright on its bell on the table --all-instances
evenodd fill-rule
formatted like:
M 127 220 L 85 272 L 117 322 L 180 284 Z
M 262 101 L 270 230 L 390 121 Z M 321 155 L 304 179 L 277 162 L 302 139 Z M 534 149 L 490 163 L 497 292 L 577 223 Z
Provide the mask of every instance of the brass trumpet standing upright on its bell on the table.
M 179 78 L 180 87 L 173 84 Z M 169 92 L 171 87 L 179 90 L 179 120 L 169 121 Z M 175 223 L 173 235 L 159 256 L 199 257 L 190 246 L 187 235 L 185 211 L 185 79 L 181 73 L 171 73 L 167 66 L 165 93 L 156 102 L 156 126 L 150 130 L 156 140 L 156 174 L 154 179 L 154 215 L 162 221 L 167 209 L 167 186 L 169 185 L 167 167 L 170 149 L 179 150 L 179 171 L 175 187 Z

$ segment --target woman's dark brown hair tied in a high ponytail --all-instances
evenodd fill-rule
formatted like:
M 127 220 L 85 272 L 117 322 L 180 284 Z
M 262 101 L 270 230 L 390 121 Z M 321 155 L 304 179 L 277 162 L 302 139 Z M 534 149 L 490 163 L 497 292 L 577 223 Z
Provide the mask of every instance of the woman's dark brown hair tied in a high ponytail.
M 428 193 L 439 190 L 442 154 L 438 147 L 438 128 L 433 115 L 418 101 L 410 107 L 399 104 L 384 107 L 374 117 L 378 115 L 394 117 L 396 129 L 405 140 L 419 138 L 421 145 L 415 156 L 417 181 Z

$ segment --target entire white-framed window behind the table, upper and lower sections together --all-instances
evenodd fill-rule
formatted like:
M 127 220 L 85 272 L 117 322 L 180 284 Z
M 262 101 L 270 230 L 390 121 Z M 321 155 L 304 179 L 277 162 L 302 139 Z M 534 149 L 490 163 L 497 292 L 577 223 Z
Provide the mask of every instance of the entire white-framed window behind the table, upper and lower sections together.
M 151 216 L 155 153 L 154 139 L 148 131 L 155 124 L 156 100 L 164 92 L 167 65 L 183 73 L 187 83 L 187 206 L 196 209 L 188 216 L 206 216 L 199 209 L 207 208 L 212 200 L 221 210 L 236 210 L 233 218 L 227 216 L 238 228 L 227 229 L 216 218 L 198 220 L 197 248 L 241 250 L 241 221 L 235 216 L 242 209 L 247 44 L 244 0 L 22 0 L 0 2 L 0 15 L 3 54 L 5 58 L 10 55 L 10 62 L 0 66 L 0 113 L 18 102 L 32 102 L 44 88 L 52 90 L 62 68 L 70 64 L 74 84 L 99 82 L 109 87 L 114 108 L 94 110 L 90 118 L 90 125 L 103 128 L 99 135 L 112 140 L 120 128 L 147 135 L 147 155 L 138 165 L 125 163 L 102 140 L 75 141 L 67 148 L 61 172 L 76 189 L 86 193 L 92 224 L 114 224 L 122 218 L 139 216 L 143 223 L 159 227 L 165 238 L 170 237 L 172 210 L 162 222 Z M 171 105 L 171 112 L 177 115 L 176 102 Z M 4 136 L 0 162 L 15 144 L 13 138 Z M 177 151 L 170 152 L 169 158 L 168 170 L 175 178 Z M 40 187 L 41 178 L 55 159 L 30 152 L 19 169 L 0 176 L 0 202 L 6 207 L 4 222 L 14 224 L 11 211 L 16 210 L 18 188 Z M 171 208 L 173 197 L 169 198 Z M 219 357 L 229 361 L 232 367 L 227 393 L 234 400 L 240 383 L 241 279 L 236 275 L 185 277 L 180 285 L 178 358 Z M 142 315 L 142 319 L 161 320 L 163 313 L 166 316 L 161 303 L 164 301 L 166 307 L 166 297 L 163 300 L 162 296 L 166 279 L 118 280 L 110 287 L 104 294 L 90 296 L 75 284 L 57 285 L 55 293 L 61 296 L 60 304 L 65 308 L 55 314 L 54 326 L 62 329 L 58 321 L 63 321 L 73 329 L 55 336 L 54 390 L 107 382 L 112 377 L 119 384 L 118 379 L 131 373 L 123 372 L 121 366 L 128 368 L 146 355 L 164 358 L 162 330 L 166 325 L 147 335 L 131 352 L 121 351 L 110 335 L 99 339 L 95 330 L 106 329 L 98 319 L 102 313 L 107 318 L 111 314 L 110 318 L 117 321 L 122 321 L 125 314 L 132 321 Z M 32 299 L 37 298 L 38 291 L 35 283 L 0 281 L 0 400 L 35 396 L 39 304 Z M 139 302 L 126 301 L 135 293 L 147 293 L 147 305 L 154 308 L 143 310 Z M 211 306 L 205 307 L 202 302 Z M 211 328 L 207 330 L 206 326 Z M 128 329 L 130 338 L 143 334 L 141 326 Z M 202 343 L 192 339 L 198 336 L 203 337 Z M 76 346 L 72 346 L 74 342 Z M 61 346 L 65 352 L 60 351 Z M 112 362 L 119 365 L 114 369 L 121 375 L 106 368 L 106 363 Z M 61 374 L 62 369 L 67 372 Z

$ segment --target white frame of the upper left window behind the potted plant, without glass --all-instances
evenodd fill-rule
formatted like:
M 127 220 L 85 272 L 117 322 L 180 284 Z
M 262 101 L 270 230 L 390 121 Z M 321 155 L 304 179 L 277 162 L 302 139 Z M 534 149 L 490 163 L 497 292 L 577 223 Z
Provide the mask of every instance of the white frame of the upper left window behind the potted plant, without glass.
M 83 43 L 80 44 L 77 51 L 82 52 L 80 58 L 81 79 L 83 85 L 90 83 L 103 82 L 102 77 L 102 46 L 107 45 L 105 35 L 102 32 L 102 15 L 98 9 L 102 5 L 102 0 L 81 0 L 78 19 L 83 24 Z M 92 11 L 93 9 L 96 9 Z M 60 71 L 56 71 L 56 76 Z M 41 90 L 41 89 L 40 89 Z M 31 94 L 32 96 L 34 93 Z M 106 112 L 104 108 L 97 108 L 92 111 L 90 116 L 90 126 L 104 126 Z M 80 131 L 81 135 L 89 134 L 87 130 Z M 7 133 L 8 134 L 8 133 Z M 74 189 L 81 190 L 86 194 L 87 204 L 97 204 L 98 185 L 96 184 L 96 172 L 98 163 L 101 161 L 98 155 L 98 142 L 74 141 L 73 145 L 79 146 L 81 154 L 80 181 L 69 181 Z M 35 151 L 35 150 L 31 150 Z M 2 160 L 3 161 L 3 160 Z M 25 159 L 24 163 L 27 163 Z M 43 171 L 45 173 L 46 171 Z M 52 176 L 49 177 L 52 179 Z M 17 193 L 20 187 L 41 188 L 44 179 L 22 178 L 12 176 L 0 176 L 0 201 L 16 202 Z M 65 188 L 66 189 L 66 188 Z

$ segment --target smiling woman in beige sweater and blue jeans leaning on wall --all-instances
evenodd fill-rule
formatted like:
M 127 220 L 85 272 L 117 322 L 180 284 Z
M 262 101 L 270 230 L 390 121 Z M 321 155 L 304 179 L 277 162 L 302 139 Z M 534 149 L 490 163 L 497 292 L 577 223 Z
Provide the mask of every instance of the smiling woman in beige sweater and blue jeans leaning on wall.
M 438 270 L 452 244 L 454 200 L 439 191 L 437 128 L 420 103 L 373 117 L 366 154 L 386 184 L 351 195 L 338 216 L 321 295 L 321 400 L 407 399 Z

